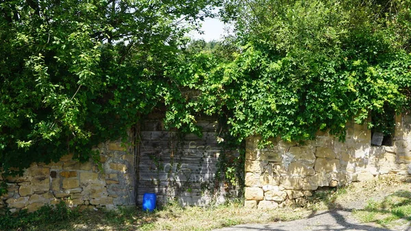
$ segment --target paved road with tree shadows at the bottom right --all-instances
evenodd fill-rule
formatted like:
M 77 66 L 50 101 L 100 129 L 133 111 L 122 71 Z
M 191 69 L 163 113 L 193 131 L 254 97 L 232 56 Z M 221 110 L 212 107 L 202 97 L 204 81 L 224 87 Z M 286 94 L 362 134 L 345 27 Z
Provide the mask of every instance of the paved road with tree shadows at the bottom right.
M 295 230 L 327 230 L 327 231 L 411 231 L 411 226 L 403 225 L 397 228 L 381 228 L 374 224 L 359 223 L 351 218 L 351 212 L 344 210 L 322 211 L 311 215 L 307 219 L 296 221 L 277 222 L 271 224 L 248 224 L 222 228 L 213 231 L 295 231 Z

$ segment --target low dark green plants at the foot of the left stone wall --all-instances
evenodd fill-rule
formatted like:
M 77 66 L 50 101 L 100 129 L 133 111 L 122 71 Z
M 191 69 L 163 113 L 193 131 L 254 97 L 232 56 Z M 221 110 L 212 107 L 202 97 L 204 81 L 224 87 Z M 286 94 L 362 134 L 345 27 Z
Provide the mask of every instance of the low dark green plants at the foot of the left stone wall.
M 27 212 L 21 210 L 18 213 L 12 214 L 6 212 L 0 216 L 0 230 L 13 230 L 43 226 L 45 224 L 53 224 L 61 221 L 72 221 L 79 216 L 77 210 L 67 208 L 64 202 L 56 204 L 55 207 L 45 205 L 35 212 Z

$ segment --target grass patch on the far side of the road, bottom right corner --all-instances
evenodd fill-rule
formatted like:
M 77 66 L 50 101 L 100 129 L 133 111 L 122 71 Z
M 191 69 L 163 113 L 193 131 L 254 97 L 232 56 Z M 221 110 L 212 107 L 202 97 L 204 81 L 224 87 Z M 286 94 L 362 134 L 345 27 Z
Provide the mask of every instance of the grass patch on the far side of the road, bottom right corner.
M 411 220 L 411 192 L 397 191 L 381 202 L 369 200 L 364 209 L 354 210 L 353 215 L 362 222 L 384 226 L 399 219 Z

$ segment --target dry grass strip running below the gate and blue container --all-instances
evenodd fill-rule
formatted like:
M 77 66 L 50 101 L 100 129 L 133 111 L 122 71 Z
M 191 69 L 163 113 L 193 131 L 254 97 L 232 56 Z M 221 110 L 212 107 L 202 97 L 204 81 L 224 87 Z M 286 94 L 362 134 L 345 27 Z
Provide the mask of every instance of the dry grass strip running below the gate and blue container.
M 64 206 L 65 208 L 65 206 Z M 228 203 L 221 206 L 182 207 L 175 203 L 168 204 L 154 212 L 145 212 L 141 208 L 119 208 L 118 210 L 84 210 L 75 211 L 73 216 L 49 222 L 47 216 L 53 215 L 53 209 L 29 215 L 40 215 L 41 221 L 30 223 L 25 216 L 8 215 L 14 225 L 0 225 L 0 230 L 25 231 L 86 231 L 86 230 L 114 230 L 114 231 L 154 231 L 154 230 L 181 230 L 206 231 L 215 228 L 235 226 L 242 223 L 271 223 L 274 221 L 290 221 L 306 217 L 308 210 L 301 208 L 278 208 L 276 210 L 257 210 L 244 208 L 241 202 Z M 68 210 L 71 212 L 71 210 Z M 36 215 L 35 215 L 36 214 Z M 58 216 L 55 216 L 58 217 Z M 3 218 L 2 218 L 3 219 Z M 24 226 L 18 225 L 21 219 L 26 219 Z

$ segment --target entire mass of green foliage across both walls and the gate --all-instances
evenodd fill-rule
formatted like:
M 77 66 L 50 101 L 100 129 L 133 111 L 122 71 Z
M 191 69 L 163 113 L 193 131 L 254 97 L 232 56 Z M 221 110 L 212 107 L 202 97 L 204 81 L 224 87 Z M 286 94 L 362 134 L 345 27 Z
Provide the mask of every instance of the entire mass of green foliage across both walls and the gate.
M 1 167 L 88 160 L 158 106 L 182 132 L 224 118 L 238 143 L 343 140 L 347 121 L 408 110 L 409 0 L 227 0 L 234 36 L 187 45 L 222 3 L 1 1 Z

